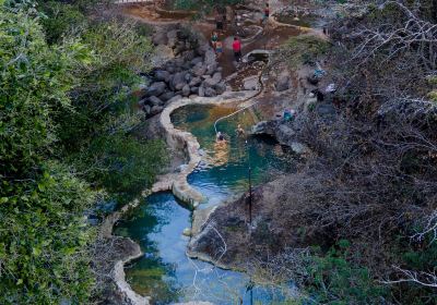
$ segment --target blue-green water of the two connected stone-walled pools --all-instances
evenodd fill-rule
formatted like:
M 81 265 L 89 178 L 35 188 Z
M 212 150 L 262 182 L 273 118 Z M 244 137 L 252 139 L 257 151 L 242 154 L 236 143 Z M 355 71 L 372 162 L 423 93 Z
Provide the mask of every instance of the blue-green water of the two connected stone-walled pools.
M 236 135 L 238 124 L 247 129 L 253 124 L 253 115 L 248 111 L 217 125 L 228 135 L 226 145 L 217 145 L 214 122 L 234 111 L 231 107 L 187 106 L 172 115 L 175 126 L 196 135 L 204 150 L 204 161 L 189 176 L 189 183 L 209 198 L 200 208 L 245 192 L 249 162 L 255 184 L 293 167 L 286 151 L 272 139 L 247 138 L 246 142 Z M 145 253 L 127 267 L 127 280 L 138 293 L 152 296 L 154 304 L 181 301 L 271 304 L 292 293 L 292 286 L 251 284 L 245 273 L 189 259 L 185 254 L 189 239 L 182 231 L 191 225 L 191 211 L 170 193 L 149 196 L 126 219 L 116 227 L 116 234 L 139 242 Z

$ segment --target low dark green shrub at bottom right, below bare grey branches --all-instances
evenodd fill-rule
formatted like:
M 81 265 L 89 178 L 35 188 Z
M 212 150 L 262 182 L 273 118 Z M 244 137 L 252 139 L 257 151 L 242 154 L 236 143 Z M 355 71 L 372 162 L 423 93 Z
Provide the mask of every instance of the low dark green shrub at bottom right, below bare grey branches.
M 350 243 L 340 241 L 327 254 L 310 258 L 309 292 L 322 304 L 380 304 L 387 288 L 377 284 L 365 267 L 347 261 Z

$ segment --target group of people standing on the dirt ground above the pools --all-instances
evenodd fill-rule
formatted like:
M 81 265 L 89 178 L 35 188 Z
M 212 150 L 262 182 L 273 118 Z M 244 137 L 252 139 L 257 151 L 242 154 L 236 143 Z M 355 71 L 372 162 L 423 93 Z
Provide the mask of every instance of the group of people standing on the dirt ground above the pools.
M 270 16 L 270 5 L 268 2 L 268 3 L 265 3 L 261 24 L 265 23 L 269 20 L 269 16 Z M 224 52 L 223 41 L 220 38 L 220 34 L 222 34 L 225 28 L 225 22 L 226 22 L 226 13 L 221 10 L 217 10 L 216 15 L 215 15 L 215 30 L 213 30 L 211 34 L 211 45 L 214 48 L 215 53 L 217 54 L 217 58 L 221 58 Z M 234 36 L 232 47 L 233 47 L 233 51 L 234 51 L 235 61 L 240 62 L 241 57 L 243 57 L 241 56 L 241 40 L 238 36 Z

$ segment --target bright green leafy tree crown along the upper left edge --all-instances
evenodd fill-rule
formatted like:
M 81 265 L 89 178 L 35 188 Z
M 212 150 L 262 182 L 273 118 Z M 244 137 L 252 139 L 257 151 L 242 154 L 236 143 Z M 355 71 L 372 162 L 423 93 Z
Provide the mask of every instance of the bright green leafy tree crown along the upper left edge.
M 0 171 L 16 174 L 35 167 L 55 142 L 54 108 L 68 110 L 72 73 L 90 58 L 87 48 L 70 40 L 47 46 L 38 19 L 0 7 Z

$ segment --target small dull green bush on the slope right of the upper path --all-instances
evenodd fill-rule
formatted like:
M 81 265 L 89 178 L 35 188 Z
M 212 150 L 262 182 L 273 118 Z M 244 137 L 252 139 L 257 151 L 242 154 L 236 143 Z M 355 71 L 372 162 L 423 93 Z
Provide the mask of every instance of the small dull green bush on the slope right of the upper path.
M 281 54 L 286 58 L 292 68 L 303 63 L 314 63 L 328 53 L 331 45 L 329 41 L 314 35 L 292 37 L 282 46 Z

